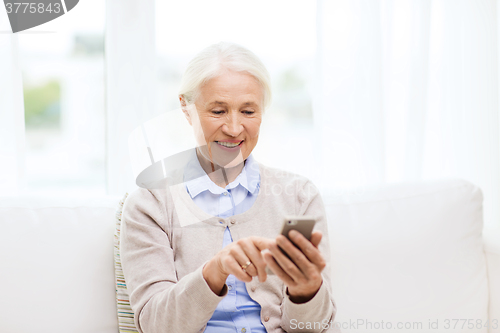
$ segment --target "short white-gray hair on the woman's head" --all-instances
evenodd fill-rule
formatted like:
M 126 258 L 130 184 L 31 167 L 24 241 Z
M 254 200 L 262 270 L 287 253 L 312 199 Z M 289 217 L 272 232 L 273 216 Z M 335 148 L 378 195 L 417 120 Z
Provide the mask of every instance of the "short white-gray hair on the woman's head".
M 262 86 L 264 108 L 271 103 L 270 76 L 260 59 L 250 50 L 234 43 L 220 42 L 198 53 L 188 64 L 182 76 L 179 96 L 186 103 L 196 101 L 200 88 L 220 75 L 223 69 L 252 75 Z

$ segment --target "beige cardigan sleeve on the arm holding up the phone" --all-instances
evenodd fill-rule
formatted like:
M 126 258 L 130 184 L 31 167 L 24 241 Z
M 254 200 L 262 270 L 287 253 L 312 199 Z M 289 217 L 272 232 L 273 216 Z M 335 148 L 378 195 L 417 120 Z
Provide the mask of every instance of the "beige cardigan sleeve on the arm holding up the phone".
M 298 215 L 313 215 L 317 217 L 314 230 L 323 234 L 318 246 L 323 255 L 326 266 L 321 275 L 323 283 L 320 289 L 306 303 L 294 303 L 284 292 L 281 304 L 281 327 L 288 333 L 291 332 L 334 332 L 334 318 L 336 306 L 331 291 L 330 273 L 330 245 L 328 227 L 323 200 L 319 190 L 310 181 L 307 181 L 298 193 Z M 286 286 L 284 287 L 286 289 Z

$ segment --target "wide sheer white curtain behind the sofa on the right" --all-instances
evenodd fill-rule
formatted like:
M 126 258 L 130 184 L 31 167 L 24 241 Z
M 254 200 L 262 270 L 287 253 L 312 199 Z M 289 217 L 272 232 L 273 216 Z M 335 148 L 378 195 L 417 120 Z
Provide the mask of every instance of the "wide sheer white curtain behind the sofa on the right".
M 496 0 L 318 0 L 325 188 L 460 177 L 500 226 Z

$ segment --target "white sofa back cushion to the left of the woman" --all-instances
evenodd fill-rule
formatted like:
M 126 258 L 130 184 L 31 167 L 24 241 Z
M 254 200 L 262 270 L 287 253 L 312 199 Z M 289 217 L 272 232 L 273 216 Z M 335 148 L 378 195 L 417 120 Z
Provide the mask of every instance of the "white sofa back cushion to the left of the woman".
M 118 331 L 119 199 L 0 198 L 0 332 Z

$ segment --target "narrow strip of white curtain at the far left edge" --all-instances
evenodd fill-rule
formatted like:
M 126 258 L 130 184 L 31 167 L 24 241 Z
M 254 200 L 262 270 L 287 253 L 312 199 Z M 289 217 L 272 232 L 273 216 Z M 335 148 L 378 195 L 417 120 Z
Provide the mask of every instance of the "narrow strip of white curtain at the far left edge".
M 18 195 L 24 170 L 24 103 L 17 36 L 0 10 L 0 195 Z

